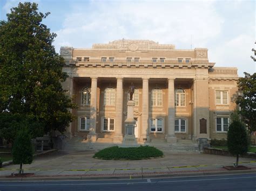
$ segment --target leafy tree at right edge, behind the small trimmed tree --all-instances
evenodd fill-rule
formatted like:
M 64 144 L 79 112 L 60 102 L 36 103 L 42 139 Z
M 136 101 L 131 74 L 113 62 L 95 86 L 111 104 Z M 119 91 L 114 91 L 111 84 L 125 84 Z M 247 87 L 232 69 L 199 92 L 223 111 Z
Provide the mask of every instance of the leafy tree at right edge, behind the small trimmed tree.
M 237 98 L 236 103 L 240 105 L 240 115 L 248 127 L 248 130 L 256 131 L 256 73 L 250 75 L 244 73 L 245 77 L 238 80 L 238 88 L 242 95 Z

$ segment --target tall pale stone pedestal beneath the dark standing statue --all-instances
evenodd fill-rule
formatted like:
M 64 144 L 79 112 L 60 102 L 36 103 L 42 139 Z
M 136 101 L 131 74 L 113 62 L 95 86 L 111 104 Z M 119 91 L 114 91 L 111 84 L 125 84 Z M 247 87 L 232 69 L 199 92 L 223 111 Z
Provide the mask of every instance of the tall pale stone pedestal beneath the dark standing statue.
M 125 136 L 123 145 L 137 145 L 137 138 L 134 135 L 134 128 L 136 121 L 133 116 L 134 101 L 127 102 L 127 119 L 125 120 Z

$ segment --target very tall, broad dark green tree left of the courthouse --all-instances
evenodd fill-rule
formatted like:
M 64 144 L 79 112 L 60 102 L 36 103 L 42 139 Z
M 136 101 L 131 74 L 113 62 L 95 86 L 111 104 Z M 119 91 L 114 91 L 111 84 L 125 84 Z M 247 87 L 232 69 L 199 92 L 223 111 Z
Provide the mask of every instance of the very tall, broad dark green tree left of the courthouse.
M 62 89 L 68 75 L 52 46 L 56 34 L 42 24 L 48 15 L 25 2 L 0 21 L 0 115 L 33 116 L 45 133 L 63 132 L 75 108 Z

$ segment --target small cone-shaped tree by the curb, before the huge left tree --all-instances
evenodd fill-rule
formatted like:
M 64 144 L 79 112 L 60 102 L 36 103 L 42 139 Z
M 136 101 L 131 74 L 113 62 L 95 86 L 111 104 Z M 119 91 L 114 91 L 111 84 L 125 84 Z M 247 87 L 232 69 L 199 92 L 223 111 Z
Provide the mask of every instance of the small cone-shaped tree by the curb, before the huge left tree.
M 22 173 L 22 164 L 31 164 L 33 161 L 33 147 L 28 129 L 19 130 L 12 147 L 13 162 L 19 165 L 19 174 Z

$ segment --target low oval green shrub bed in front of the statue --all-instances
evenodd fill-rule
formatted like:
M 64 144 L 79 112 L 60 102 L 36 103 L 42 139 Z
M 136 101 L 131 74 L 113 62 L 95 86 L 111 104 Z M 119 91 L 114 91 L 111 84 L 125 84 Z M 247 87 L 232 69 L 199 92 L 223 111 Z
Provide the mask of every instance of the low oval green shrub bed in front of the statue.
M 100 150 L 93 158 L 104 160 L 142 160 L 151 157 L 162 157 L 163 152 L 152 146 L 118 147 L 113 146 Z

